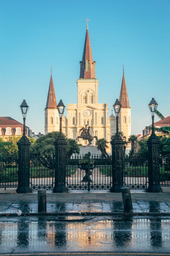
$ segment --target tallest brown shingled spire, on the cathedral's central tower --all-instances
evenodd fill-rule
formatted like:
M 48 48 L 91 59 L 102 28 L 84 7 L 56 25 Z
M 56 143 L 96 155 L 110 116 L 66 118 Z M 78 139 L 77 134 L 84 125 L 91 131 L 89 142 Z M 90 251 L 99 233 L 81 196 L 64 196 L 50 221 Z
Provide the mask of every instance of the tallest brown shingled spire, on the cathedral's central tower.
M 82 58 L 82 61 L 80 61 L 80 78 L 84 78 L 84 79 L 96 78 L 95 63 L 96 61 L 93 61 L 93 57 L 92 57 L 90 38 L 89 38 L 88 26 L 87 26 L 83 58 Z

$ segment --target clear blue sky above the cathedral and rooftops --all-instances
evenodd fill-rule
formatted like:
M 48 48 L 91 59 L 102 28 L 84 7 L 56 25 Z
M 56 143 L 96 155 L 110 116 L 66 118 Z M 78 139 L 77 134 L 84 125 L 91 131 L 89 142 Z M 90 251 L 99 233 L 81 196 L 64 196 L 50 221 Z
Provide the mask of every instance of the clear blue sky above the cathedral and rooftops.
M 158 110 L 170 115 L 169 13 L 169 0 L 0 0 L 0 116 L 22 122 L 19 105 L 25 99 L 26 125 L 44 133 L 49 65 L 57 102 L 77 102 L 88 17 L 99 103 L 108 103 L 111 114 L 124 64 L 132 134 L 141 134 L 151 124 L 152 97 Z

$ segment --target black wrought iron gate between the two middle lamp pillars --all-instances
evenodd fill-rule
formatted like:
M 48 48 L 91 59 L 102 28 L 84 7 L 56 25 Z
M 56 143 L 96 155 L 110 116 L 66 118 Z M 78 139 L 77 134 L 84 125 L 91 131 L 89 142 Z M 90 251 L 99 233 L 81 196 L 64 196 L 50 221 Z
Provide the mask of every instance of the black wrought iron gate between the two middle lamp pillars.
M 110 189 L 111 156 L 74 156 L 68 159 L 66 179 L 68 189 Z

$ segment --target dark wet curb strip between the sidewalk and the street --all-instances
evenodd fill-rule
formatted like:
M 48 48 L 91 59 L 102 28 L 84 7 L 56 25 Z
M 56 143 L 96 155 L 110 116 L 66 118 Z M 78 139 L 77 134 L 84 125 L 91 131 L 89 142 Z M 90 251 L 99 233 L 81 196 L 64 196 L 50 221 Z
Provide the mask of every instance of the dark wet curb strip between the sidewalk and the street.
M 58 215 L 80 215 L 78 212 L 22 212 L 20 216 L 58 216 Z M 112 215 L 112 216 L 169 216 L 170 212 L 82 212 L 82 216 L 95 216 L 95 215 Z M 0 217 L 16 217 L 16 213 L 3 213 L 0 214 Z

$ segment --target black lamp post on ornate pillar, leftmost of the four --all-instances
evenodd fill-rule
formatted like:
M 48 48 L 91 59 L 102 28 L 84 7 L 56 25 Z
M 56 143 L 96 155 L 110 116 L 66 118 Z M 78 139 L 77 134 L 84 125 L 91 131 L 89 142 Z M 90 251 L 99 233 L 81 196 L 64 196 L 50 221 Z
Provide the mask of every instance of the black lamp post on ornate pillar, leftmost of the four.
M 28 137 L 25 133 L 25 117 L 27 115 L 29 106 L 27 102 L 23 100 L 20 105 L 20 109 L 23 115 L 23 135 L 17 142 L 18 145 L 18 187 L 17 193 L 31 193 L 30 188 L 30 145 Z

